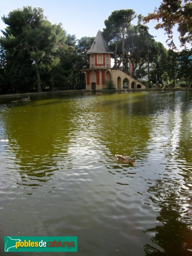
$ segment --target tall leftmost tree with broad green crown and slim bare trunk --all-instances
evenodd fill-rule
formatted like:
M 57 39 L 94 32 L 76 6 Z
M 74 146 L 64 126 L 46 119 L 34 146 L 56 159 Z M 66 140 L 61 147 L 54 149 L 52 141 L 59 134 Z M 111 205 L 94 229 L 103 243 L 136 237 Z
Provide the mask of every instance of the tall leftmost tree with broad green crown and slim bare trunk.
M 6 50 L 9 71 L 15 79 L 16 74 L 28 78 L 31 69 L 34 70 L 38 92 L 41 92 L 40 75 L 44 65 L 54 60 L 52 53 L 56 50 L 57 42 L 64 40 L 61 35 L 61 24 L 52 25 L 44 17 L 43 9 L 32 9 L 31 6 L 14 10 L 8 17 L 3 16 L 2 20 L 7 27 L 3 31 L 4 36 L 0 38 L 0 43 Z M 18 72 L 17 67 L 23 72 Z M 16 80 L 15 83 L 18 83 Z

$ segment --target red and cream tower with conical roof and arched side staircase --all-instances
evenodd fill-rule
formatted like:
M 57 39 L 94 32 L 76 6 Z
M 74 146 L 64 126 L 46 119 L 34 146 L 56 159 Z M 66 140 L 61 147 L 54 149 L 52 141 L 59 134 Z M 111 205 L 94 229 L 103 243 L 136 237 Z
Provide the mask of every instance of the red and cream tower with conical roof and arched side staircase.
M 111 68 L 113 51 L 108 47 L 102 32 L 99 30 L 90 49 L 89 69 L 82 70 L 86 75 L 86 90 L 101 90 L 113 84 L 116 89 L 145 89 L 145 86 L 128 76 L 122 70 Z

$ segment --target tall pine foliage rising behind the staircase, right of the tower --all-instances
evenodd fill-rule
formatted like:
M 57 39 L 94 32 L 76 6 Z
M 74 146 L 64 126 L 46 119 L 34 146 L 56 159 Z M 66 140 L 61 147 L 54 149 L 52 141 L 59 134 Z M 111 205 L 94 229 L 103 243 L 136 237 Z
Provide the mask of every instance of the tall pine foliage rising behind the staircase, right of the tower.
M 145 75 L 144 69 L 141 68 L 143 65 L 147 67 L 148 49 L 149 62 L 152 63 L 157 61 L 162 47 L 148 33 L 148 27 L 141 24 L 142 15 L 138 15 L 138 25 L 134 26 L 131 25 L 131 20 L 135 17 L 133 10 L 121 11 L 112 12 L 108 20 L 105 20 L 104 36 L 110 41 L 110 47 L 115 52 L 113 68 L 120 68 L 123 64 L 122 70 L 128 73 L 128 63 L 131 62 L 133 67 L 131 75 L 137 79 Z M 126 22 L 122 22 L 123 19 L 116 19 L 117 15 L 126 17 Z M 136 68 L 137 73 L 135 73 Z

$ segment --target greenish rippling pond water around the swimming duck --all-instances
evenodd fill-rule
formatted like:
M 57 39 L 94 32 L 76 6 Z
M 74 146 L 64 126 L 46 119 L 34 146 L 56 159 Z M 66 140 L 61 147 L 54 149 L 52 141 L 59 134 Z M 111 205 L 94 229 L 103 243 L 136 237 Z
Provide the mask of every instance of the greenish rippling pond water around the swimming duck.
M 192 91 L 12 100 L 0 99 L 0 255 L 4 236 L 78 236 L 78 253 L 20 255 L 192 255 Z

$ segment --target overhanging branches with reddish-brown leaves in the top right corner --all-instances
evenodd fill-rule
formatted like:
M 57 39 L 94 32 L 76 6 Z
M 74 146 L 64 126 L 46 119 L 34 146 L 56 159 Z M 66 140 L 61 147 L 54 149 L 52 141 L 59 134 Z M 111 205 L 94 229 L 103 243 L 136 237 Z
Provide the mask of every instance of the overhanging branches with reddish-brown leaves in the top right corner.
M 145 22 L 157 20 L 156 29 L 163 28 L 172 41 L 172 29 L 178 25 L 180 42 L 184 46 L 186 42 L 192 42 L 192 2 L 191 0 L 163 0 L 160 7 L 155 8 L 154 13 L 144 17 Z

